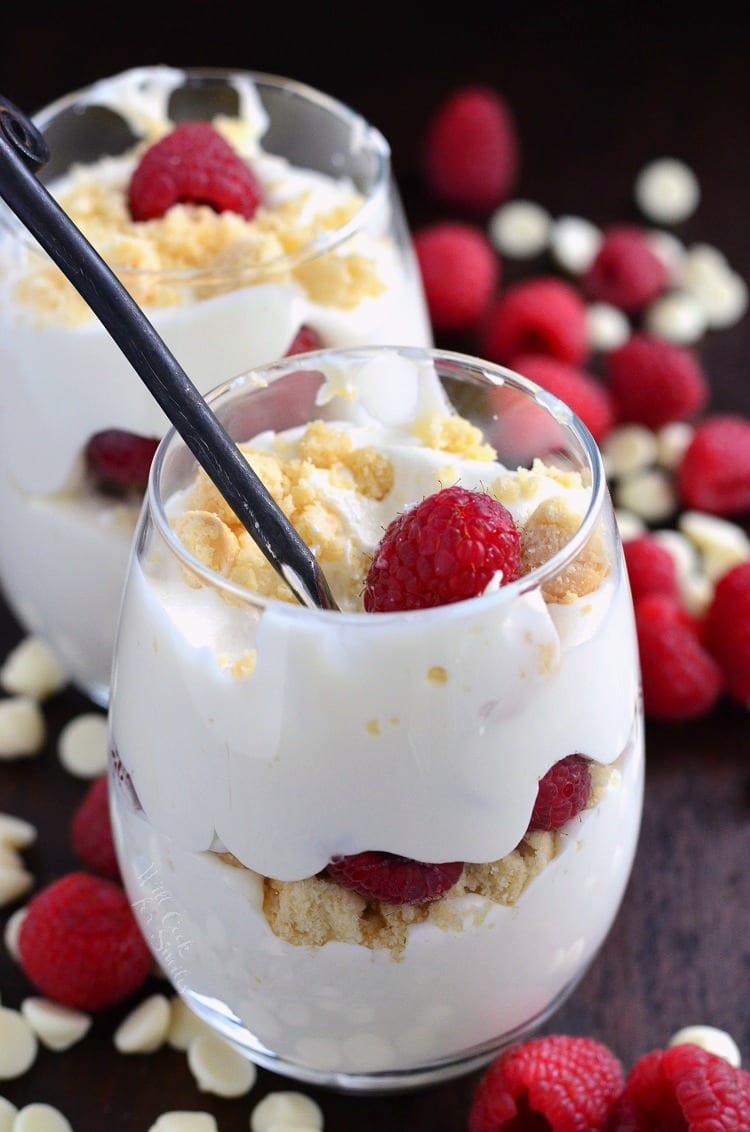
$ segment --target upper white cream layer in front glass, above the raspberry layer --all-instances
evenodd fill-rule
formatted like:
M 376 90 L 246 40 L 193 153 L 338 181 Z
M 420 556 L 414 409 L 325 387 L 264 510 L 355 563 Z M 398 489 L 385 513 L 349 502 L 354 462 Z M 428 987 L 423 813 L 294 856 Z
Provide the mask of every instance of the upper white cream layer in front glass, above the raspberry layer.
M 363 375 L 371 392 L 372 366 Z M 328 423 L 394 469 L 379 503 L 350 490 L 347 506 L 346 492 L 319 486 L 346 532 L 342 561 L 371 554 L 407 501 L 448 482 L 495 490 L 519 526 L 550 498 L 585 514 L 590 489 L 578 477 L 514 474 L 426 447 L 420 431 L 439 391 L 426 368 L 402 376 L 383 422 L 377 397 L 328 374 Z M 296 443 L 298 432 L 258 439 L 267 451 Z M 172 518 L 184 498 L 167 504 Z M 609 511 L 601 521 L 614 548 Z M 398 615 L 227 602 L 189 584 L 153 538 L 126 589 L 111 711 L 147 817 L 183 849 L 227 850 L 282 881 L 367 849 L 428 861 L 505 856 L 557 761 L 579 753 L 607 764 L 626 748 L 638 659 L 614 549 L 597 589 L 567 603 L 548 603 L 528 578 L 489 591 Z

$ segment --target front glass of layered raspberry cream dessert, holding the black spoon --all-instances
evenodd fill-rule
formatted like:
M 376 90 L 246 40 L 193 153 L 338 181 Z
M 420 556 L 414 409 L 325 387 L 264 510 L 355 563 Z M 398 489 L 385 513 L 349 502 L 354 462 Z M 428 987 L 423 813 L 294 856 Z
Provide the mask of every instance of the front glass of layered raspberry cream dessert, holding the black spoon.
M 110 704 L 131 903 L 257 1063 L 363 1092 L 462 1074 L 575 987 L 635 855 L 638 653 L 598 451 L 523 376 L 430 349 L 310 352 L 208 401 L 338 609 L 295 601 L 170 432 Z

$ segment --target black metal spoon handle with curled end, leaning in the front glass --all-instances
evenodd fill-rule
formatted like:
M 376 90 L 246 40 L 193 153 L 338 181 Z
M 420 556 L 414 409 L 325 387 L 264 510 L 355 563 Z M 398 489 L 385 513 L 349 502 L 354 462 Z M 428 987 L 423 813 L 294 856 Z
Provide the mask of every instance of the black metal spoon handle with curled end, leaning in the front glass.
M 268 561 L 302 604 L 336 609 L 310 548 L 140 307 L 34 175 L 49 158 L 46 142 L 1 95 L 0 154 L 0 196 L 94 311 Z

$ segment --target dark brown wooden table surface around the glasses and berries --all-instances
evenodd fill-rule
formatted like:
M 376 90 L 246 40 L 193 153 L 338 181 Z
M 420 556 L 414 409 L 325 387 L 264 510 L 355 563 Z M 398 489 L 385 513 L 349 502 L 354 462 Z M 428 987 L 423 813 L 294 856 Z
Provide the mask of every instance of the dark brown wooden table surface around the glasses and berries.
M 489 82 L 517 117 L 518 195 L 552 215 L 575 213 L 598 224 L 635 220 L 632 183 L 640 168 L 653 157 L 679 156 L 697 173 L 702 200 L 676 234 L 715 245 L 750 280 L 747 26 L 724 22 L 721 7 L 705 25 L 663 7 L 563 7 L 532 3 L 519 11 L 501 3 L 491 18 L 452 11 L 436 23 L 434 14 L 417 18 L 408 6 L 336 16 L 318 6 L 283 19 L 226 5 L 209 22 L 204 6 L 166 3 L 148 34 L 137 5 L 105 12 L 74 2 L 42 20 L 31 10 L 3 10 L 0 92 L 31 111 L 140 63 L 293 75 L 350 102 L 382 129 L 410 223 L 417 226 L 447 215 L 419 174 L 428 115 L 455 86 Z M 113 34 L 120 18 L 122 34 Z M 71 32 L 83 26 L 86 37 Z M 100 44 L 95 53 L 86 46 L 92 41 Z M 519 273 L 506 265 L 506 278 Z M 712 411 L 750 415 L 750 317 L 709 334 L 699 350 Z M 0 608 L 0 655 L 20 635 Z M 54 743 L 66 720 L 88 706 L 72 691 L 55 697 L 46 705 L 48 749 L 0 765 L 0 811 L 40 830 L 27 854 L 40 885 L 77 865 L 68 822 L 85 786 L 60 767 Z M 750 718 L 739 705 L 723 703 L 696 723 L 648 723 L 643 834 L 626 900 L 603 951 L 548 1030 L 597 1037 L 629 1065 L 680 1027 L 704 1022 L 730 1031 L 750 1060 L 749 748 Z M 2 921 L 8 911 L 0 910 Z M 18 1005 L 28 993 L 0 951 L 2 1002 Z M 293 1087 L 261 1071 L 248 1097 L 202 1095 L 184 1055 L 164 1049 L 124 1057 L 114 1050 L 112 1034 L 124 1013 L 100 1015 L 67 1053 L 42 1049 L 29 1073 L 0 1082 L 0 1094 L 17 1105 L 54 1104 L 77 1132 L 146 1132 L 171 1108 L 207 1109 L 221 1132 L 247 1132 L 250 1108 L 266 1091 Z M 320 1101 L 327 1132 L 456 1132 L 465 1126 L 476 1078 L 386 1098 L 305 1091 Z

